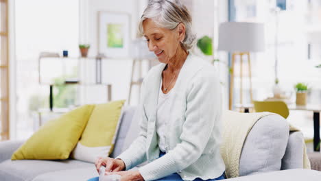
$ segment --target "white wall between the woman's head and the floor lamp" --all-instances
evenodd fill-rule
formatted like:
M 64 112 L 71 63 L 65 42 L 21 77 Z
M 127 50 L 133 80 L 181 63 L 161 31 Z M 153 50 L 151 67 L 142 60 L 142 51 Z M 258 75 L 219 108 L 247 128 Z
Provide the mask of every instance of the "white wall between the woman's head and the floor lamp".
M 197 38 L 209 36 L 213 38 L 214 58 L 218 58 L 225 64 L 215 64 L 219 73 L 219 79 L 222 83 L 223 107 L 228 108 L 228 53 L 217 51 L 218 28 L 219 24 L 228 21 L 228 1 L 222 0 L 185 0 L 187 8 L 190 9 L 193 19 L 193 28 Z M 195 48 L 195 53 L 202 53 Z M 213 57 L 203 56 L 206 60 L 212 60 Z

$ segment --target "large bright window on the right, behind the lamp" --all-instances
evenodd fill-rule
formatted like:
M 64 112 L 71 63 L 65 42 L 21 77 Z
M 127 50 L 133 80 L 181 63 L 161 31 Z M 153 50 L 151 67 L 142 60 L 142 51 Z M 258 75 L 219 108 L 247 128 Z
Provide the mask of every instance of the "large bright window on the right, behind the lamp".
M 276 9 L 276 7 L 282 9 Z M 252 53 L 254 99 L 272 97 L 274 69 L 279 84 L 295 101 L 294 84 L 306 82 L 311 88 L 310 104 L 320 104 L 321 45 L 320 1 L 235 0 L 235 21 L 265 23 L 265 52 Z M 278 66 L 275 67 L 275 60 Z M 248 82 L 248 81 L 244 81 Z M 235 82 L 236 87 L 238 83 Z M 249 87 L 245 85 L 244 87 Z M 235 93 L 239 91 L 235 90 Z M 244 90 L 250 103 L 248 90 Z M 235 101 L 239 95 L 235 95 Z

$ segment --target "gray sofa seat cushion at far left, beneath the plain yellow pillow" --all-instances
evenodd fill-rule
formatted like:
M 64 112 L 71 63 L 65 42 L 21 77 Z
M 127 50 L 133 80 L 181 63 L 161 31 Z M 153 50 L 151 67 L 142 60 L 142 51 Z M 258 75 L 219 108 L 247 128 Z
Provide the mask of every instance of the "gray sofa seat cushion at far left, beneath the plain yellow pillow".
M 95 166 L 78 160 L 5 160 L 0 163 L 0 178 L 1 181 L 29 181 L 43 173 L 83 167 Z

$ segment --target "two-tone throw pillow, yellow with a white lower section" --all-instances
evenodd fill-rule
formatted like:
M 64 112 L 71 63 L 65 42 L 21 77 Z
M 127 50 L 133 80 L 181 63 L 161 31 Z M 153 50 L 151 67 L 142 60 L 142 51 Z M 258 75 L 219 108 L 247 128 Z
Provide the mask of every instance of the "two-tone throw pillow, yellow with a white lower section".
M 72 158 L 95 162 L 112 152 L 125 100 L 97 104 L 88 120 L 82 138 L 71 154 Z

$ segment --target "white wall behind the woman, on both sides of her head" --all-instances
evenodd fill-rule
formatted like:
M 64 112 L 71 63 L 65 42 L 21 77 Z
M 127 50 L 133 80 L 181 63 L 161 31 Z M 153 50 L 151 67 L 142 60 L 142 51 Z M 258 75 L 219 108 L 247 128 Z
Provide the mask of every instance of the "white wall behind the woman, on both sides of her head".
M 97 54 L 97 14 L 99 11 L 126 12 L 131 15 L 132 19 L 132 38 L 136 37 L 137 23 L 147 0 L 80 0 L 80 41 L 90 43 L 91 50 L 89 54 Z M 208 35 L 214 38 L 217 45 L 218 25 L 228 21 L 228 1 L 222 0 L 185 0 L 183 1 L 191 10 L 193 16 L 193 27 L 198 34 L 198 38 Z M 215 52 L 217 53 L 217 52 Z M 217 57 L 227 62 L 227 53 L 219 52 Z M 109 60 L 106 67 L 103 68 L 105 82 L 111 82 L 113 86 L 113 99 L 127 99 L 130 84 L 131 60 Z M 228 103 L 228 69 L 226 65 L 220 64 L 219 76 L 224 83 L 222 92 L 224 93 L 224 107 Z M 134 95 L 138 95 L 138 90 Z M 105 97 L 103 99 L 106 99 Z

